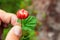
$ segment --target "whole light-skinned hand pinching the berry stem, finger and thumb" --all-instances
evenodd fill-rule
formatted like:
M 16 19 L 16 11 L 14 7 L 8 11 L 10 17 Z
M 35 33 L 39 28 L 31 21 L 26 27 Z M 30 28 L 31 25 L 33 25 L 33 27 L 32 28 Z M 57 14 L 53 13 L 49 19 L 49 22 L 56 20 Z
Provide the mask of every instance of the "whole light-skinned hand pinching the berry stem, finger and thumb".
M 17 23 L 17 16 L 15 14 L 7 13 L 0 10 L 0 26 L 11 23 L 13 25 L 12 29 L 8 32 L 5 40 L 19 40 L 21 37 L 21 25 Z M 2 27 L 2 26 L 1 26 Z M 4 26 L 6 27 L 6 26 Z

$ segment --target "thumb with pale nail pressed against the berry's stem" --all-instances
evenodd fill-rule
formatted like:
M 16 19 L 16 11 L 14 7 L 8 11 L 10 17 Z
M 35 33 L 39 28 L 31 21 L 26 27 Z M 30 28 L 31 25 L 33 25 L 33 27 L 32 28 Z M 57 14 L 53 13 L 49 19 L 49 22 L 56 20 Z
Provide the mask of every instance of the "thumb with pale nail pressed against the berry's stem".
M 8 32 L 5 40 L 19 40 L 21 35 L 22 35 L 21 27 L 16 25 Z

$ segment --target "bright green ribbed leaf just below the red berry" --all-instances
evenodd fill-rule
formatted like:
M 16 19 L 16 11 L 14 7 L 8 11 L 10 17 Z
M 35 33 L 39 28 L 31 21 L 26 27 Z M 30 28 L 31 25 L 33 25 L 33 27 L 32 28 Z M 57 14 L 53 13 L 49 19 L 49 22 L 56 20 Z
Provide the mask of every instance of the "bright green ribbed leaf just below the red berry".
M 28 30 L 34 30 L 36 26 L 37 20 L 34 16 L 29 16 L 27 19 L 22 21 L 23 29 L 27 28 Z

